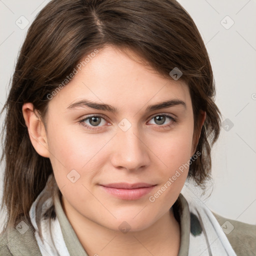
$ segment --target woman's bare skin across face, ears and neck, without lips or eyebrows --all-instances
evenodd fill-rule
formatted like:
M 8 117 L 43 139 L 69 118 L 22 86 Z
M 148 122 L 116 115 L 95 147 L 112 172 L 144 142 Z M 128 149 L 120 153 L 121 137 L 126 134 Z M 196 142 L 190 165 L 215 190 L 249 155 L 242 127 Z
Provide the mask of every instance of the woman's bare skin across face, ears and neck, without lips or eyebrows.
M 67 108 L 84 98 L 118 111 Z M 168 99 L 182 100 L 185 107 L 179 104 L 145 112 L 149 104 Z M 178 254 L 180 229 L 169 208 L 188 168 L 154 202 L 148 197 L 195 153 L 198 137 L 193 132 L 185 83 L 164 78 L 121 50 L 106 46 L 49 101 L 46 128 L 32 103 L 25 103 L 22 111 L 35 150 L 50 159 L 64 212 L 88 255 Z M 83 121 L 95 130 L 79 122 L 97 114 L 103 116 L 97 126 L 91 119 Z M 166 117 L 159 124 L 153 117 L 162 114 L 176 121 Z M 201 127 L 205 112 L 199 114 Z M 131 125 L 126 131 L 118 126 L 123 118 Z M 72 169 L 80 175 L 74 183 L 67 178 Z M 124 200 L 99 185 L 113 182 L 156 186 L 139 199 Z M 130 227 L 127 233 L 118 228 L 123 221 Z

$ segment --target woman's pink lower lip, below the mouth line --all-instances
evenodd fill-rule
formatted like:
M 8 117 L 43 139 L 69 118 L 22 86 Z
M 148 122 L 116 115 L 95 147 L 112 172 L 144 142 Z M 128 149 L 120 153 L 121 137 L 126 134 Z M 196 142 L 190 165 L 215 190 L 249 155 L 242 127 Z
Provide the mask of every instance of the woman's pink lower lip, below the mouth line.
M 114 188 L 100 185 L 109 194 L 123 199 L 123 200 L 136 200 L 148 194 L 154 186 L 139 187 L 133 189 Z

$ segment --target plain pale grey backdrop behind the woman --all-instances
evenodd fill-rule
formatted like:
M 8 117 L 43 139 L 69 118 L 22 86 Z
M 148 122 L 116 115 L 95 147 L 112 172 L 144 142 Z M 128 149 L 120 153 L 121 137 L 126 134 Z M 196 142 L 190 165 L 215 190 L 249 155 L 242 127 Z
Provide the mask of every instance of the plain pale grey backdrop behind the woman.
M 1 107 L 27 28 L 47 2 L 0 0 Z M 201 191 L 189 184 L 183 190 L 224 217 L 256 224 L 256 0 L 178 2 L 191 15 L 206 44 L 216 82 L 216 104 L 223 116 L 220 137 L 212 149 L 211 195 L 200 197 Z M 0 124 L 2 120 L 3 116 Z M 0 197 L 2 177 L 3 164 Z

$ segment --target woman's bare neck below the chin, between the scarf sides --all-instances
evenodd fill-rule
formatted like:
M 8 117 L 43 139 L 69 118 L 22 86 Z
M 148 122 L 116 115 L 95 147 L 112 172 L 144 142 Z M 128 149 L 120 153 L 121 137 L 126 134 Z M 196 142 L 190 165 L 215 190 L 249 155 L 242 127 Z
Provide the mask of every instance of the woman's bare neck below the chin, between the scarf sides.
M 99 225 L 72 211 L 62 196 L 61 201 L 67 219 L 89 256 L 178 255 L 180 227 L 172 209 L 143 230 L 122 233 Z

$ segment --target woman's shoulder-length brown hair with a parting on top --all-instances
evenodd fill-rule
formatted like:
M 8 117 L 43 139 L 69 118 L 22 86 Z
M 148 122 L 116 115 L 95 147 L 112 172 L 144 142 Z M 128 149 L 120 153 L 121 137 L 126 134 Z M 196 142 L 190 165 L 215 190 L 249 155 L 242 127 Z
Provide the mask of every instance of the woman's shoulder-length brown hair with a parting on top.
M 199 110 L 206 111 L 196 147 L 201 154 L 190 164 L 188 177 L 201 187 L 210 178 L 210 150 L 219 134 L 220 113 L 208 54 L 190 15 L 175 0 L 52 0 L 28 29 L 1 111 L 6 109 L 1 156 L 6 162 L 4 228 L 13 226 L 20 214 L 29 220 L 29 208 L 52 173 L 49 158 L 40 156 L 31 144 L 23 103 L 33 103 L 43 119 L 47 95 L 85 54 L 106 44 L 133 50 L 169 79 L 174 67 L 182 71 L 197 133 Z

